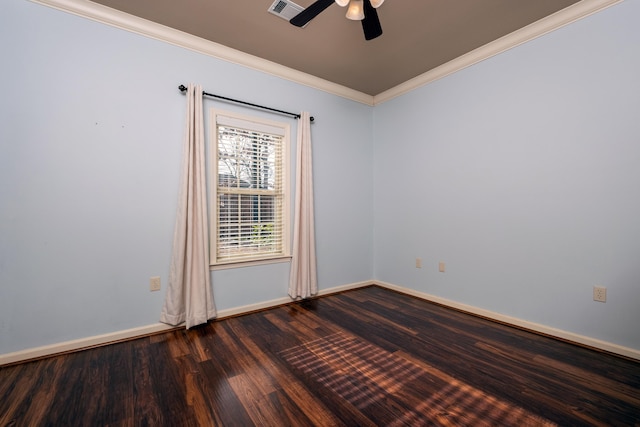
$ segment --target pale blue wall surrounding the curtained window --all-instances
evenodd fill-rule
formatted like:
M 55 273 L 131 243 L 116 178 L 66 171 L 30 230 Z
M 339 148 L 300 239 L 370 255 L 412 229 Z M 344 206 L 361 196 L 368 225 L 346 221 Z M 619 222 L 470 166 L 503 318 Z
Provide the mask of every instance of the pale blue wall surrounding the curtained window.
M 0 4 L 0 57 L 0 354 L 158 321 L 182 83 L 315 116 L 319 286 L 371 279 L 371 107 L 23 0 Z M 212 106 L 289 121 L 295 138 L 294 119 Z M 285 297 L 288 271 L 213 272 L 217 308 Z

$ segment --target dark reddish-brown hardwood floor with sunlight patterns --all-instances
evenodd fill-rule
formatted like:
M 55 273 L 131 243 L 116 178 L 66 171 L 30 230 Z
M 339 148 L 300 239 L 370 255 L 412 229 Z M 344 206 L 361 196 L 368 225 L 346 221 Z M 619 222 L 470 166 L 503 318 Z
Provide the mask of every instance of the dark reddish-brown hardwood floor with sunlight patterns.
M 640 426 L 640 363 L 367 287 L 0 368 L 0 426 Z

